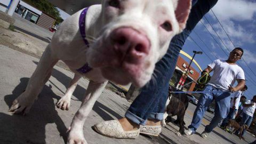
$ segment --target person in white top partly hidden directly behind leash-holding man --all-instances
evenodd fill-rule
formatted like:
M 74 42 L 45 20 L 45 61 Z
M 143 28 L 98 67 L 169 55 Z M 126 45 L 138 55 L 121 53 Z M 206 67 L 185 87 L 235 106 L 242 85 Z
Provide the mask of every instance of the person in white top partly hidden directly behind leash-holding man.
M 240 102 L 241 95 L 246 90 L 247 90 L 247 86 L 244 85 L 244 87 L 241 91 L 237 91 L 237 92 L 234 93 L 234 97 L 233 97 L 233 99 L 231 100 L 231 103 L 230 103 L 229 113 L 228 113 L 227 117 L 223 120 L 223 122 L 220 126 L 221 129 L 225 128 L 225 126 L 228 122 L 228 119 L 235 119 L 235 115 L 237 114 L 237 110 L 238 110 L 238 107 L 239 107 L 239 102 Z

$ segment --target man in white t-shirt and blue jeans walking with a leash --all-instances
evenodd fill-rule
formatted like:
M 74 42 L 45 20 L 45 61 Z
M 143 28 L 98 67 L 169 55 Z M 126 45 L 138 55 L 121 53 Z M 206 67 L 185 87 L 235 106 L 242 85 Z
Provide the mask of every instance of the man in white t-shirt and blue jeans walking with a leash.
M 186 135 L 191 135 L 196 132 L 201 124 L 205 111 L 213 100 L 215 100 L 215 114 L 211 123 L 205 126 L 201 137 L 206 138 L 214 127 L 227 116 L 230 107 L 230 92 L 242 90 L 245 84 L 244 71 L 241 67 L 236 65 L 236 61 L 241 59 L 242 55 L 243 49 L 236 47 L 230 52 L 228 60 L 214 60 L 203 70 L 202 75 L 213 71 L 211 80 L 204 89 L 204 91 L 209 91 L 209 93 L 204 93 L 199 98 L 192 122 L 188 126 L 189 129 L 185 131 Z M 233 86 L 235 81 L 237 81 L 238 84 Z M 223 92 L 214 93 L 214 91 Z

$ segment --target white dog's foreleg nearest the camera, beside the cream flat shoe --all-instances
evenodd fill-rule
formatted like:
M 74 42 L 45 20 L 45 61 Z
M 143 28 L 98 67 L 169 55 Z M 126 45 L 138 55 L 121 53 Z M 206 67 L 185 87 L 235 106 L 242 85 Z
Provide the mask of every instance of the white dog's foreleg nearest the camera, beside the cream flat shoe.
M 81 107 L 76 112 L 69 127 L 68 143 L 86 143 L 83 134 L 83 125 L 86 117 L 89 115 L 95 101 L 99 98 L 101 92 L 106 86 L 107 81 L 97 83 L 90 81 Z

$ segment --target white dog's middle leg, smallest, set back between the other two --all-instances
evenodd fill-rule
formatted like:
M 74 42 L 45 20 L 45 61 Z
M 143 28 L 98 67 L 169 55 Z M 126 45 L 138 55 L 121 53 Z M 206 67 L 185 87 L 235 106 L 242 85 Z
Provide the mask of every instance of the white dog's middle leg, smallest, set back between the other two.
M 65 95 L 63 95 L 63 97 L 56 103 L 57 108 L 60 108 L 62 110 L 69 109 L 71 96 L 76 89 L 78 80 L 81 77 L 82 77 L 81 75 L 75 74 L 74 78 L 68 85 L 68 89 Z

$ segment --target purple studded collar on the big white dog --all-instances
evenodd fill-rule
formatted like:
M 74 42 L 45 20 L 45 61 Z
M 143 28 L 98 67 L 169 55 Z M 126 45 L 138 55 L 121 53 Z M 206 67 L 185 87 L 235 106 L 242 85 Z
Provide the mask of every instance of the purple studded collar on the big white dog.
M 86 17 L 86 13 L 87 10 L 89 9 L 89 7 L 86 7 L 82 13 L 80 14 L 79 17 L 79 30 L 80 30 L 80 34 L 82 36 L 82 38 L 84 39 L 84 43 L 87 47 L 89 47 L 89 42 L 86 39 L 86 34 L 85 34 L 85 17 Z M 89 67 L 88 63 L 85 63 L 85 65 L 82 68 L 77 69 L 76 71 L 78 71 L 79 73 L 85 74 L 88 71 L 92 70 L 91 67 Z

